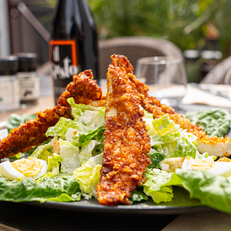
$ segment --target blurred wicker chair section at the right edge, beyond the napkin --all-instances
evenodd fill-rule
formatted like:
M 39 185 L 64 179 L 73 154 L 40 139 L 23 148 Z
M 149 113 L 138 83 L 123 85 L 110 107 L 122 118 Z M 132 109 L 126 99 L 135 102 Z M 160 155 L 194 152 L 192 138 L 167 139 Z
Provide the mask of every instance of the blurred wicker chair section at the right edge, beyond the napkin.
M 218 63 L 201 81 L 201 83 L 223 84 L 225 75 L 231 68 L 231 56 Z

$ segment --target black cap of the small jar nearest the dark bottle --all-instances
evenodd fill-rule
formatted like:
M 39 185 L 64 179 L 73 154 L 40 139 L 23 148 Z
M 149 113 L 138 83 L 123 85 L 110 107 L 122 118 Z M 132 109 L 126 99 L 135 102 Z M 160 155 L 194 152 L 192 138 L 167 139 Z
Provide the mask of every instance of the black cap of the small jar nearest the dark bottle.
M 18 72 L 35 71 L 37 68 L 38 55 L 35 53 L 16 53 L 19 59 Z

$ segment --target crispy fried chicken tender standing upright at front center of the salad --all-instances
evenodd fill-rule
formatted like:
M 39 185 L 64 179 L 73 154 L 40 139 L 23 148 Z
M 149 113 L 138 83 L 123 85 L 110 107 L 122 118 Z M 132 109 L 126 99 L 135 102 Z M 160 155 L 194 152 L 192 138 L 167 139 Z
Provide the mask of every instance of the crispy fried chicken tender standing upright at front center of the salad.
M 123 67 L 112 63 L 107 78 L 103 164 L 96 195 L 103 205 L 129 204 L 132 191 L 146 181 L 143 173 L 151 163 L 150 137 L 139 107 L 143 96 Z

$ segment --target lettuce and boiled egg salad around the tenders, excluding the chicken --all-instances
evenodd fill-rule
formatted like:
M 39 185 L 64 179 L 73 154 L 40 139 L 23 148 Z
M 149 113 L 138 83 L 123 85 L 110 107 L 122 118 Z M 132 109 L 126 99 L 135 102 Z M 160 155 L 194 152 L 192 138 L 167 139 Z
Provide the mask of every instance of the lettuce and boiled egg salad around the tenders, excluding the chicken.
M 96 197 L 102 167 L 105 108 L 76 104 L 73 98 L 67 101 L 74 120 L 60 118 L 47 130 L 49 141 L 29 156 L 18 154 L 18 159 L 11 163 L 0 164 L 0 200 L 43 203 Z M 229 159 L 217 161 L 207 153 L 200 154 L 197 137 L 181 129 L 167 114 L 154 120 L 145 111 L 143 119 L 151 138 L 151 165 L 144 173 L 146 182 L 132 193 L 130 202 L 151 198 L 153 205 L 167 205 L 180 189 L 189 193 L 192 200 L 198 199 L 201 205 L 231 213 Z

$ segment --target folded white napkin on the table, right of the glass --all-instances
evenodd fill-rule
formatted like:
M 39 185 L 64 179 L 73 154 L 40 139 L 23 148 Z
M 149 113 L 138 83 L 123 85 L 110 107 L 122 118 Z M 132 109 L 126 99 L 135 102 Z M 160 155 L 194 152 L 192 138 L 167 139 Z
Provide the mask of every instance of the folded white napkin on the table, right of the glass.
M 186 95 L 182 100 L 182 104 L 205 104 L 213 107 L 231 108 L 231 101 L 229 99 L 212 95 L 190 84 L 187 85 Z

